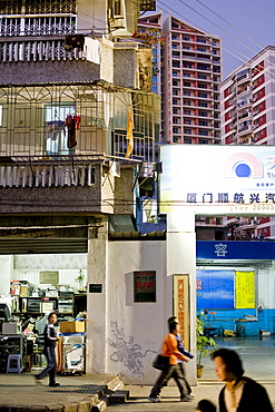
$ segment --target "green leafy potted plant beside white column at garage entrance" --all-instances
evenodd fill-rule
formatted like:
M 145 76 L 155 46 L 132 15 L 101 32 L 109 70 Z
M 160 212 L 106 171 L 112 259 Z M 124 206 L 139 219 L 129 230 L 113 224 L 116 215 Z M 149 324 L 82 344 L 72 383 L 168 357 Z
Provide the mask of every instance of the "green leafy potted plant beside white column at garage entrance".
M 197 377 L 202 377 L 204 365 L 202 365 L 202 357 L 213 352 L 217 344 L 213 337 L 205 336 L 204 325 L 205 321 L 202 315 L 196 320 L 196 335 L 197 335 Z M 203 315 L 204 316 L 204 315 Z

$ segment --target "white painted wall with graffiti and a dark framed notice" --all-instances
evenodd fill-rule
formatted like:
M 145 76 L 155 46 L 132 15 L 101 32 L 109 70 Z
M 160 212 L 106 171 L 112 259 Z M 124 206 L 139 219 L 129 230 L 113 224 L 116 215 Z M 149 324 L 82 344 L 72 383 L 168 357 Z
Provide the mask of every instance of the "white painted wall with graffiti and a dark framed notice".
M 153 384 L 151 362 L 167 333 L 166 242 L 109 242 L 107 372 L 125 383 Z M 134 302 L 134 271 L 156 271 L 156 303 Z

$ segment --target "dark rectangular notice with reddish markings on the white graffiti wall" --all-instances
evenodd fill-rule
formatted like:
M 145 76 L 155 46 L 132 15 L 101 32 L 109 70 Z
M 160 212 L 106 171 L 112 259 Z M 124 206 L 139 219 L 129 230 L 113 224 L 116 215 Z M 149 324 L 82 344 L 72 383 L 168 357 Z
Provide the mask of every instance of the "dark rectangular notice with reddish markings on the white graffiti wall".
M 134 302 L 156 302 L 156 272 L 134 272 Z

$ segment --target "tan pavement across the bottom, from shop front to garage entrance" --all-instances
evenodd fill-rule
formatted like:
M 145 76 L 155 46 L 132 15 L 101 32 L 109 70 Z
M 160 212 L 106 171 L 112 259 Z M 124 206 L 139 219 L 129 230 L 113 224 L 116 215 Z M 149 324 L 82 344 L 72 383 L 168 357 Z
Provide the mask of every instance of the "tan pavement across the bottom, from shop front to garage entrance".
M 263 371 L 264 374 L 264 371 Z M 196 403 L 200 399 L 209 399 L 217 404 L 218 393 L 223 383 L 216 379 L 202 379 L 198 385 L 193 388 L 195 400 L 179 403 L 178 389 L 167 386 L 163 390 L 161 403 L 153 404 L 148 401 L 151 386 L 129 385 L 118 376 L 112 375 L 82 375 L 82 376 L 58 376 L 60 386 L 49 388 L 45 379 L 42 385 L 35 383 L 32 373 L 0 374 L 0 411 L 1 412 L 90 412 L 104 411 L 107 408 L 105 394 L 117 391 L 119 394 L 128 390 L 130 399 L 119 405 L 110 405 L 108 411 L 135 411 L 147 410 L 165 411 L 195 411 Z M 275 381 L 258 380 L 269 395 L 273 408 L 275 408 Z M 102 398 L 101 398 L 102 396 Z M 100 399 L 101 398 L 101 399 Z

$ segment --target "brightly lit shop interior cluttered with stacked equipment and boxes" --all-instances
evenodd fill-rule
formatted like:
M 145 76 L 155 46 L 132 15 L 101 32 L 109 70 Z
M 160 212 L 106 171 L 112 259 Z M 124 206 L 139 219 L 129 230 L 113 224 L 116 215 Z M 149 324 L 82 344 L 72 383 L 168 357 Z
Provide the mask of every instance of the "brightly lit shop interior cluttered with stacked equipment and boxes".
M 43 369 L 43 330 L 58 315 L 58 372 L 85 373 L 87 254 L 2 255 L 0 373 Z

